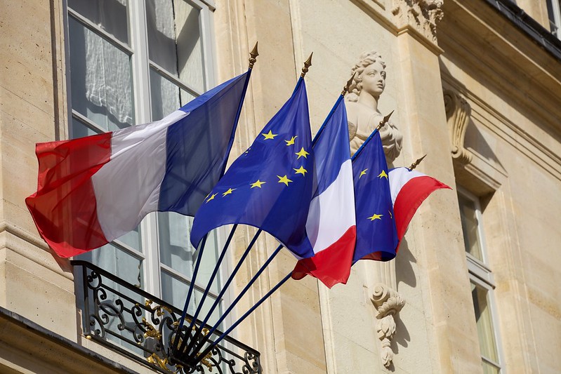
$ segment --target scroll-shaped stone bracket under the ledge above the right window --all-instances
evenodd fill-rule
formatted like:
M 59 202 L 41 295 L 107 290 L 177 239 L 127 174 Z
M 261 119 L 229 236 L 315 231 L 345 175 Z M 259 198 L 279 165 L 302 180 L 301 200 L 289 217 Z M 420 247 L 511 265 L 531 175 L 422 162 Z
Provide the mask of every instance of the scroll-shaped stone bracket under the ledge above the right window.
M 458 93 L 444 89 L 444 109 L 450 129 L 452 157 L 462 165 L 471 162 L 472 154 L 463 147 L 466 128 L 470 121 L 471 107 Z

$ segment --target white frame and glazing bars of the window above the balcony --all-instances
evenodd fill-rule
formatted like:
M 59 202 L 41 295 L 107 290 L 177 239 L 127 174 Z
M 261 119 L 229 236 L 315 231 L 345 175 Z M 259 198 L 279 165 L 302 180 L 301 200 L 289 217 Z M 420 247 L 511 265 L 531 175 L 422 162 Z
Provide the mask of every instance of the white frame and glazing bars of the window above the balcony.
M 171 1 L 171 0 L 170 0 Z M 202 58 L 204 61 L 204 91 L 208 91 L 210 88 L 216 86 L 216 58 L 214 52 L 214 29 L 212 13 L 216 9 L 214 1 L 212 0 L 184 0 L 191 4 L 200 11 L 200 35 L 202 43 Z M 68 107 L 68 136 L 72 138 L 72 121 L 73 119 L 79 120 L 86 127 L 90 128 L 95 132 L 104 132 L 105 129 L 98 126 L 96 123 L 87 119 L 86 116 L 80 114 L 79 112 L 72 109 L 72 94 L 71 94 L 71 74 L 70 74 L 70 37 L 68 31 L 68 22 L 70 17 L 74 18 L 82 25 L 91 29 L 95 34 L 103 37 L 103 39 L 109 41 L 113 46 L 119 48 L 119 50 L 127 53 L 131 58 L 131 75 L 132 75 L 132 105 L 134 114 L 134 123 L 147 123 L 152 120 L 152 105 L 150 98 L 150 68 L 156 70 L 166 79 L 169 79 L 173 84 L 176 84 L 184 91 L 194 95 L 201 95 L 203 92 L 190 87 L 182 81 L 179 81 L 175 76 L 166 72 L 165 69 L 159 67 L 156 63 L 149 60 L 148 55 L 148 40 L 147 40 L 147 23 L 146 23 L 146 12 L 145 12 L 145 0 L 128 0 L 128 35 L 130 46 L 119 41 L 117 38 L 111 34 L 105 32 L 104 29 L 95 25 L 84 16 L 80 15 L 77 11 L 73 11 L 67 4 L 67 0 L 62 0 L 62 10 L 65 16 L 65 50 L 67 51 L 65 55 L 66 62 L 66 74 L 69 77 L 67 79 L 67 107 Z M 143 94 L 144 93 L 144 94 Z M 187 229 L 187 227 L 185 227 Z M 217 230 L 217 241 L 219 244 L 225 243 L 225 237 L 227 236 L 227 228 L 223 227 Z M 158 298 L 162 298 L 163 295 L 161 290 L 161 269 L 165 269 L 166 272 L 173 274 L 176 278 L 181 281 L 185 281 L 187 286 L 190 285 L 191 280 L 185 275 L 180 274 L 171 267 L 164 265 L 160 262 L 159 258 L 159 239 L 158 239 L 158 225 L 157 225 L 157 213 L 150 213 L 140 224 L 140 243 L 143 248 L 142 252 L 136 251 L 131 248 L 123 241 L 114 240 L 112 243 L 117 246 L 121 251 L 138 258 L 143 263 L 143 289 L 148 293 L 151 293 Z M 226 259 L 228 256 L 226 256 Z M 220 267 L 220 271 L 217 276 L 223 279 L 225 274 L 230 274 L 230 261 L 225 260 L 223 266 Z M 195 282 L 194 288 L 199 291 L 204 290 L 206 287 L 206 281 L 200 281 L 200 278 Z M 218 295 L 216 293 L 209 292 L 213 298 Z M 229 299 L 229 293 L 225 293 L 221 300 L 223 304 L 227 299 Z M 176 305 L 176 307 L 183 308 L 183 305 Z M 204 317 L 204 316 L 203 316 Z M 199 318 L 201 318 L 199 316 Z M 227 318 L 225 323 L 231 323 L 232 319 Z

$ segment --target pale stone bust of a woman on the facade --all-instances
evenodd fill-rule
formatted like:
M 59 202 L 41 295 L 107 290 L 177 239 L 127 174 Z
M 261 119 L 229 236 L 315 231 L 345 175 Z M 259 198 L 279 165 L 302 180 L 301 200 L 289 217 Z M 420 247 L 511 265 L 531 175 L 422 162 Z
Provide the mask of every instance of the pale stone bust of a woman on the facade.
M 383 114 L 378 111 L 378 100 L 385 88 L 385 63 L 382 56 L 371 51 L 362 53 L 350 74 L 355 78 L 347 95 L 347 116 L 351 153 L 355 153 L 378 126 Z M 388 163 L 400 155 L 402 134 L 391 121 L 380 130 L 385 158 Z

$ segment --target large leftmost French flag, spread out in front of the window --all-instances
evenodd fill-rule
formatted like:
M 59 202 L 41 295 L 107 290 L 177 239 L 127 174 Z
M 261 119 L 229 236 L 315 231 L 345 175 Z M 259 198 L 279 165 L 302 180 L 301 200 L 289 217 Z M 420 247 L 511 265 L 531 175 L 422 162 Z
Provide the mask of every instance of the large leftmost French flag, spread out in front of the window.
M 55 253 L 103 246 L 153 211 L 194 215 L 224 173 L 250 72 L 160 121 L 37 144 L 37 192 L 25 203 Z

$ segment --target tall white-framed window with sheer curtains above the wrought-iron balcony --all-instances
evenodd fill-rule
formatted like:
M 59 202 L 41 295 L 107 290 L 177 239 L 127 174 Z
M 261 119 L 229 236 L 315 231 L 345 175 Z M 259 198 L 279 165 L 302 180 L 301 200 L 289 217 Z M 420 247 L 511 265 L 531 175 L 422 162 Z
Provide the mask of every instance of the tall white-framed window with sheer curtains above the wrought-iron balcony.
M 211 1 L 67 2 L 72 138 L 156 121 L 214 86 Z M 182 308 L 197 253 L 190 225 L 177 213 L 152 213 L 81 259 Z M 216 241 L 209 236 L 206 262 Z M 206 285 L 196 286 L 195 302 Z

